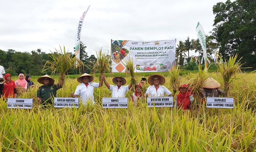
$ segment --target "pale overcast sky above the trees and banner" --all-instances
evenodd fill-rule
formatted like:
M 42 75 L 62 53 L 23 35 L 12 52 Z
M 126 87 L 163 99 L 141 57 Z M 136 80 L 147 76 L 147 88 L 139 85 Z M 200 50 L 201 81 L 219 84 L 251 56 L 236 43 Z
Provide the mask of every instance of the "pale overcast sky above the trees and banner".
M 0 0 L 0 49 L 19 52 L 65 45 L 73 52 L 76 28 L 87 9 L 81 41 L 89 55 L 114 40 L 196 39 L 199 21 L 212 30 L 212 7 L 224 0 Z M 193 54 L 193 53 L 192 53 Z

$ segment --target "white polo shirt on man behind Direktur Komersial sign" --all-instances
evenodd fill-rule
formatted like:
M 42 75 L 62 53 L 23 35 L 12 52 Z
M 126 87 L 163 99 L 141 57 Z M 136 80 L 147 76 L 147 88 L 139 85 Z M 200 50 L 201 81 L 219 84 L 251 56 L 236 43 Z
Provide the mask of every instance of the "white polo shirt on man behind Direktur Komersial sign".
M 94 104 L 93 92 L 94 92 L 94 88 L 98 88 L 98 87 L 99 87 L 99 83 L 95 83 L 95 82 L 89 83 L 87 87 L 84 83 L 81 83 L 76 87 L 76 91 L 74 94 L 80 96 L 80 101 L 83 102 L 84 106 L 86 106 L 88 100 L 93 101 L 93 104 Z

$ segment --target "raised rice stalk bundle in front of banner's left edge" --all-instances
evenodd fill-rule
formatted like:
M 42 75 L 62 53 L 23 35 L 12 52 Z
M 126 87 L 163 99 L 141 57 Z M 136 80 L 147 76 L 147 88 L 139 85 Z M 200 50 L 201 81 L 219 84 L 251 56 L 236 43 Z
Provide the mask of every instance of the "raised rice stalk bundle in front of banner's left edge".
M 111 76 L 112 71 L 110 69 L 107 54 L 105 52 L 102 52 L 102 50 L 100 49 L 98 52 L 96 52 L 96 55 L 97 61 L 93 67 L 93 72 L 95 73 L 96 71 L 98 71 L 100 75 L 104 75 L 107 72 L 110 73 Z M 101 77 L 99 77 L 99 80 L 101 81 Z

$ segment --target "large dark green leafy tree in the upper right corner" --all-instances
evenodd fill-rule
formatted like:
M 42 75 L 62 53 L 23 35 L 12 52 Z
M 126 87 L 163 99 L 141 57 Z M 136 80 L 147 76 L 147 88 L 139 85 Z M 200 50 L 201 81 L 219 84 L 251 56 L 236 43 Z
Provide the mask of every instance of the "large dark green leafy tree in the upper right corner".
M 217 3 L 213 7 L 212 36 L 220 45 L 219 53 L 226 60 L 238 54 L 244 66 L 256 68 L 256 1 L 236 0 Z

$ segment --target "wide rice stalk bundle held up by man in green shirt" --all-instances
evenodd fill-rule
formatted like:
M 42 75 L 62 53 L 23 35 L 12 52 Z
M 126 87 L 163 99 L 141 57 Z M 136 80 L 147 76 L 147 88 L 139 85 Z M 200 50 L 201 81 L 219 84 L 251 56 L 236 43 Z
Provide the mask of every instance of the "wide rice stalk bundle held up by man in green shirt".
M 46 70 L 50 70 L 52 73 L 51 75 L 57 74 L 57 75 L 63 75 L 67 73 L 69 69 L 72 67 L 75 68 L 76 65 L 81 64 L 76 62 L 75 57 L 71 57 L 71 54 L 66 52 L 65 46 L 63 46 L 63 49 L 60 50 L 55 49 L 56 52 L 52 52 L 49 57 L 51 60 L 47 60 L 45 62 L 44 68 L 42 72 Z

